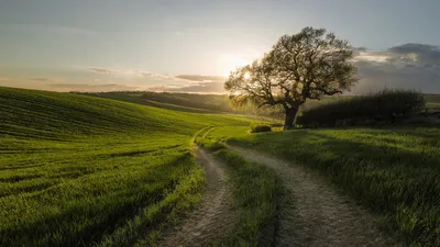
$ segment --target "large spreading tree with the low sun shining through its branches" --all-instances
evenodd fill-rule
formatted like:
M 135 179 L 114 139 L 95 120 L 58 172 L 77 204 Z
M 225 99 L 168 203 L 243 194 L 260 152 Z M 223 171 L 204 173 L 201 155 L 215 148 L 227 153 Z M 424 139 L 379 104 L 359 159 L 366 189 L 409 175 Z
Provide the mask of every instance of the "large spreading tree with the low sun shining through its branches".
M 324 29 L 305 27 L 298 34 L 282 36 L 252 65 L 231 71 L 224 88 L 234 105 L 283 105 L 284 130 L 290 130 L 307 99 L 342 93 L 358 81 L 352 57 L 353 48 L 346 41 Z

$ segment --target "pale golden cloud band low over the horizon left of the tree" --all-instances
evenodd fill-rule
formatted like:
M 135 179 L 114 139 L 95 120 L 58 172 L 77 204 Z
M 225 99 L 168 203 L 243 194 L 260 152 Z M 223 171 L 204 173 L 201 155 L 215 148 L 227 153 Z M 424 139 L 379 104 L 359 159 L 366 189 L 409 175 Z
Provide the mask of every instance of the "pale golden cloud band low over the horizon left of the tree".
M 168 75 L 143 69 L 113 69 L 106 67 L 74 68 L 75 74 L 38 71 L 13 80 L 0 76 L 0 85 L 52 91 L 130 91 L 153 90 L 170 92 L 222 93 L 226 77 L 201 75 Z

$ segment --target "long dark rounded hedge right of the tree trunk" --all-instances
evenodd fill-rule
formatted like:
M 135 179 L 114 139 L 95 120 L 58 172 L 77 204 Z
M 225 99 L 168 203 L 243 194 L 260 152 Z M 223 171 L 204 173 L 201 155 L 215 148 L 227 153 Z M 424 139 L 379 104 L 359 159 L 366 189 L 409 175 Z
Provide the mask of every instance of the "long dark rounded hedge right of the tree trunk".
M 425 98 L 413 90 L 384 89 L 307 110 L 296 119 L 305 127 L 394 124 L 425 108 Z

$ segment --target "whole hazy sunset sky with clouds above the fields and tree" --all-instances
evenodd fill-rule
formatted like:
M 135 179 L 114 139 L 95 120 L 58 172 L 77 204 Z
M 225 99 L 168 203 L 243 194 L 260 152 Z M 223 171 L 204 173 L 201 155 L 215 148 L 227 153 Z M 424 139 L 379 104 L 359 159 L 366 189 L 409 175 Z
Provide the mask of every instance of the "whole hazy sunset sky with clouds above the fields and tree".
M 438 0 L 0 0 L 0 86 L 222 92 L 284 34 L 356 47 L 354 92 L 440 93 Z

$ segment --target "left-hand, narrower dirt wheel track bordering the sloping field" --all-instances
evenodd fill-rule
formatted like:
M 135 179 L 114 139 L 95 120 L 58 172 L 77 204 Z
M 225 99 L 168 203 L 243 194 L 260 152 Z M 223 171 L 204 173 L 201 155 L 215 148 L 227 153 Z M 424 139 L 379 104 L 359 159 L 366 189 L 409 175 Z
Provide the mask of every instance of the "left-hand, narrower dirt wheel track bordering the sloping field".
M 232 223 L 231 195 L 222 167 L 202 149 L 196 148 L 195 151 L 196 161 L 205 168 L 208 182 L 201 206 L 180 226 L 167 233 L 161 246 L 207 246 L 221 238 Z

